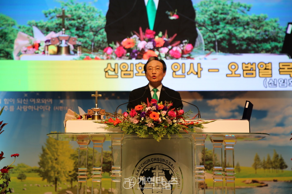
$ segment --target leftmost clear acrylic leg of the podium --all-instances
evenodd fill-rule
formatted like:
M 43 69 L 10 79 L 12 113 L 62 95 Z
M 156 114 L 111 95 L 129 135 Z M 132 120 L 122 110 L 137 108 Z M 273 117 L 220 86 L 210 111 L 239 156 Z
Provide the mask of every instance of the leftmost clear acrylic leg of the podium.
M 90 143 L 90 138 L 87 135 L 80 135 L 77 137 L 77 143 L 79 145 L 78 152 L 78 184 L 77 194 L 87 193 L 87 151 Z

